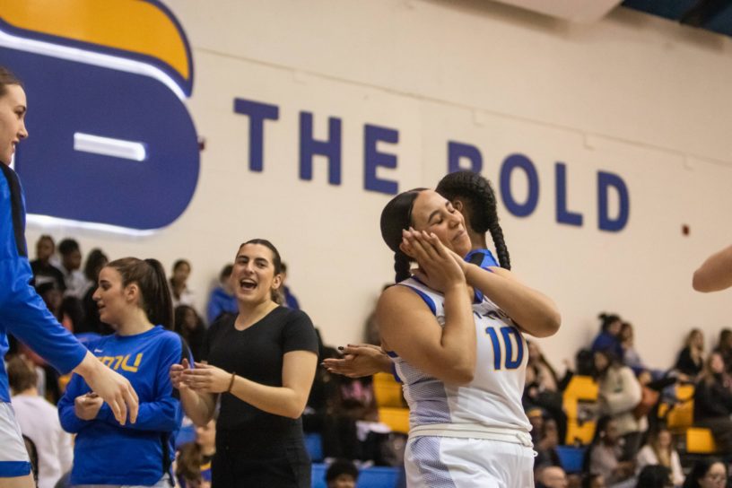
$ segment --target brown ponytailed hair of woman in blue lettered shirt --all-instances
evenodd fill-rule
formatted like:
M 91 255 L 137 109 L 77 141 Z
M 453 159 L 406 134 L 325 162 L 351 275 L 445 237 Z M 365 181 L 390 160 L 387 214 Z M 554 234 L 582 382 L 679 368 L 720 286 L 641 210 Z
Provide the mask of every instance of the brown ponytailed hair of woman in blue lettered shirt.
M 160 261 L 123 257 L 112 261 L 107 266 L 113 267 L 122 276 L 123 287 L 130 283 L 137 283 L 142 296 L 140 307 L 144 309 L 147 319 L 153 325 L 161 325 L 172 330 L 174 325 L 173 300 L 168 280 L 165 277 L 165 269 Z

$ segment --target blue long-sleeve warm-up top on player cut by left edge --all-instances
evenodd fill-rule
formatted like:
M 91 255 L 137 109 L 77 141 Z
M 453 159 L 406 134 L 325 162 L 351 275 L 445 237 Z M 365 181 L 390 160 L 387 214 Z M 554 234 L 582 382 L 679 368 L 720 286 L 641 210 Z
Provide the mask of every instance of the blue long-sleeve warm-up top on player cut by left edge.
M 33 274 L 25 245 L 25 199 L 15 171 L 0 162 L 0 358 L 11 333 L 62 373 L 82 362 L 86 348 L 58 323 L 30 286 Z M 0 361 L 0 401 L 10 402 Z

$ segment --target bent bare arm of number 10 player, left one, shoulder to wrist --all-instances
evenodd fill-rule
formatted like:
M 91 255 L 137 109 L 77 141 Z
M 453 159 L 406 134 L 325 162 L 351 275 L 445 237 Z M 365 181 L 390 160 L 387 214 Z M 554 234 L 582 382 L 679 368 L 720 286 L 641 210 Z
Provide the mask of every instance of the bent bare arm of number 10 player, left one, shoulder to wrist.
M 465 283 L 444 292 L 445 326 L 406 286 L 381 294 L 376 314 L 384 346 L 434 378 L 465 384 L 475 374 L 475 320 Z

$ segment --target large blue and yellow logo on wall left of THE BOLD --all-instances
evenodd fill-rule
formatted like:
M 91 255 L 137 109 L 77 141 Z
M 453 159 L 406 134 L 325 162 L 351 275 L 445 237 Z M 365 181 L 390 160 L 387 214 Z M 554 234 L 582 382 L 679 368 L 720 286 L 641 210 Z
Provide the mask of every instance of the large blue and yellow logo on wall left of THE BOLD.
M 0 64 L 28 95 L 30 138 L 15 157 L 28 213 L 138 231 L 169 225 L 199 171 L 183 103 L 193 81 L 185 34 L 158 2 L 69 5 L 0 0 Z

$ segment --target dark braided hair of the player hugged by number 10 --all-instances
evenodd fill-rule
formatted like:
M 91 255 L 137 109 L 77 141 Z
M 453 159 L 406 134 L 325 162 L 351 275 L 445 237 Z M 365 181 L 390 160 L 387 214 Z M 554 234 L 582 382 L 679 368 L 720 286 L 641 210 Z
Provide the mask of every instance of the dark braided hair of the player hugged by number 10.
M 498 222 L 496 196 L 491 182 L 473 171 L 456 171 L 440 179 L 435 190 L 450 201 L 456 198 L 465 201 L 470 227 L 475 232 L 491 232 L 501 267 L 510 269 L 509 248 Z

